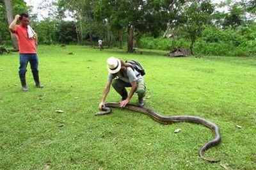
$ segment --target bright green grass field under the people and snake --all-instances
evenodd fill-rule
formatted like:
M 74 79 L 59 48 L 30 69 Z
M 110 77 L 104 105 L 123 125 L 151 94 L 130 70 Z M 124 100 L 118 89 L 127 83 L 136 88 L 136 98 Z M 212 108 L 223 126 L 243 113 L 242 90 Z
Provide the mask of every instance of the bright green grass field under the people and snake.
M 167 58 L 164 53 L 41 46 L 45 88 L 35 88 L 28 66 L 26 93 L 20 88 L 18 54 L 0 56 L 0 169 L 256 169 L 256 59 Z M 94 116 L 109 56 L 136 59 L 145 67 L 145 107 L 216 123 L 222 141 L 205 157 L 221 162 L 198 157 L 213 137 L 202 125 L 161 125 L 122 109 Z M 107 101 L 118 100 L 111 88 Z M 131 103 L 136 102 L 134 95 Z

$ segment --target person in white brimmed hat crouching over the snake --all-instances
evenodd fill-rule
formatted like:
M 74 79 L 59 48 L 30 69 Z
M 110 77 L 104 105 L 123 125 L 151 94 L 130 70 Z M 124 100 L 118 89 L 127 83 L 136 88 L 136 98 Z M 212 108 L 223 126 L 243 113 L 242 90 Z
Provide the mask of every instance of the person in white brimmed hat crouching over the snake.
M 141 74 L 131 64 L 125 63 L 122 59 L 115 57 L 107 59 L 107 68 L 109 72 L 108 82 L 104 88 L 99 109 L 105 106 L 105 99 L 108 96 L 111 84 L 115 91 L 122 97 L 120 107 L 125 107 L 135 92 L 138 93 L 138 105 L 143 106 L 145 104 L 143 97 L 145 97 L 146 87 Z M 126 87 L 131 87 L 129 94 L 125 89 Z

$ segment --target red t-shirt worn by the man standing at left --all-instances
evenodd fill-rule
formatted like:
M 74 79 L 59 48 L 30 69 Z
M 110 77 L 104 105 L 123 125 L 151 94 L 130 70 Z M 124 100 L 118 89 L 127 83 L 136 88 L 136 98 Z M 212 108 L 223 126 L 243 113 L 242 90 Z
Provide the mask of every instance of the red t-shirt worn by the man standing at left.
M 28 38 L 27 27 L 17 25 L 13 33 L 17 36 L 20 54 L 36 54 L 36 42 Z

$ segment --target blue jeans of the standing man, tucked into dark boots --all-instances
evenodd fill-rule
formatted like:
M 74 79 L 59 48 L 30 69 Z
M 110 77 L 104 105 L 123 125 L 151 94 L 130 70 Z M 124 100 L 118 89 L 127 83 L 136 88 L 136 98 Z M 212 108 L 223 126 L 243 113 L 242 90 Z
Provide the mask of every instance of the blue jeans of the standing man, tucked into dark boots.
M 30 63 L 31 71 L 33 73 L 38 72 L 38 56 L 36 54 L 20 54 L 20 75 L 27 72 L 28 62 Z

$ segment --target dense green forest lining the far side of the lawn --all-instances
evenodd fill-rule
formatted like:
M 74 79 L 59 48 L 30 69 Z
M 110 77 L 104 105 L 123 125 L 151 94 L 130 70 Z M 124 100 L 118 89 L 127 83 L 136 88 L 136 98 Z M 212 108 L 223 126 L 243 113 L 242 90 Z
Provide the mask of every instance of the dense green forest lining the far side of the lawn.
M 12 8 L 6 8 L 12 3 Z M 9 4 L 10 5 L 10 4 Z M 220 8 L 225 7 L 224 11 Z M 134 47 L 192 54 L 255 56 L 256 1 L 58 0 L 42 1 L 49 16 L 38 20 L 24 0 L 0 1 L 0 46 L 12 45 L 8 13 L 29 13 L 38 43 Z M 67 17 L 71 20 L 67 20 Z M 10 19 L 9 19 L 10 20 Z M 10 21 L 9 21 L 10 22 Z

